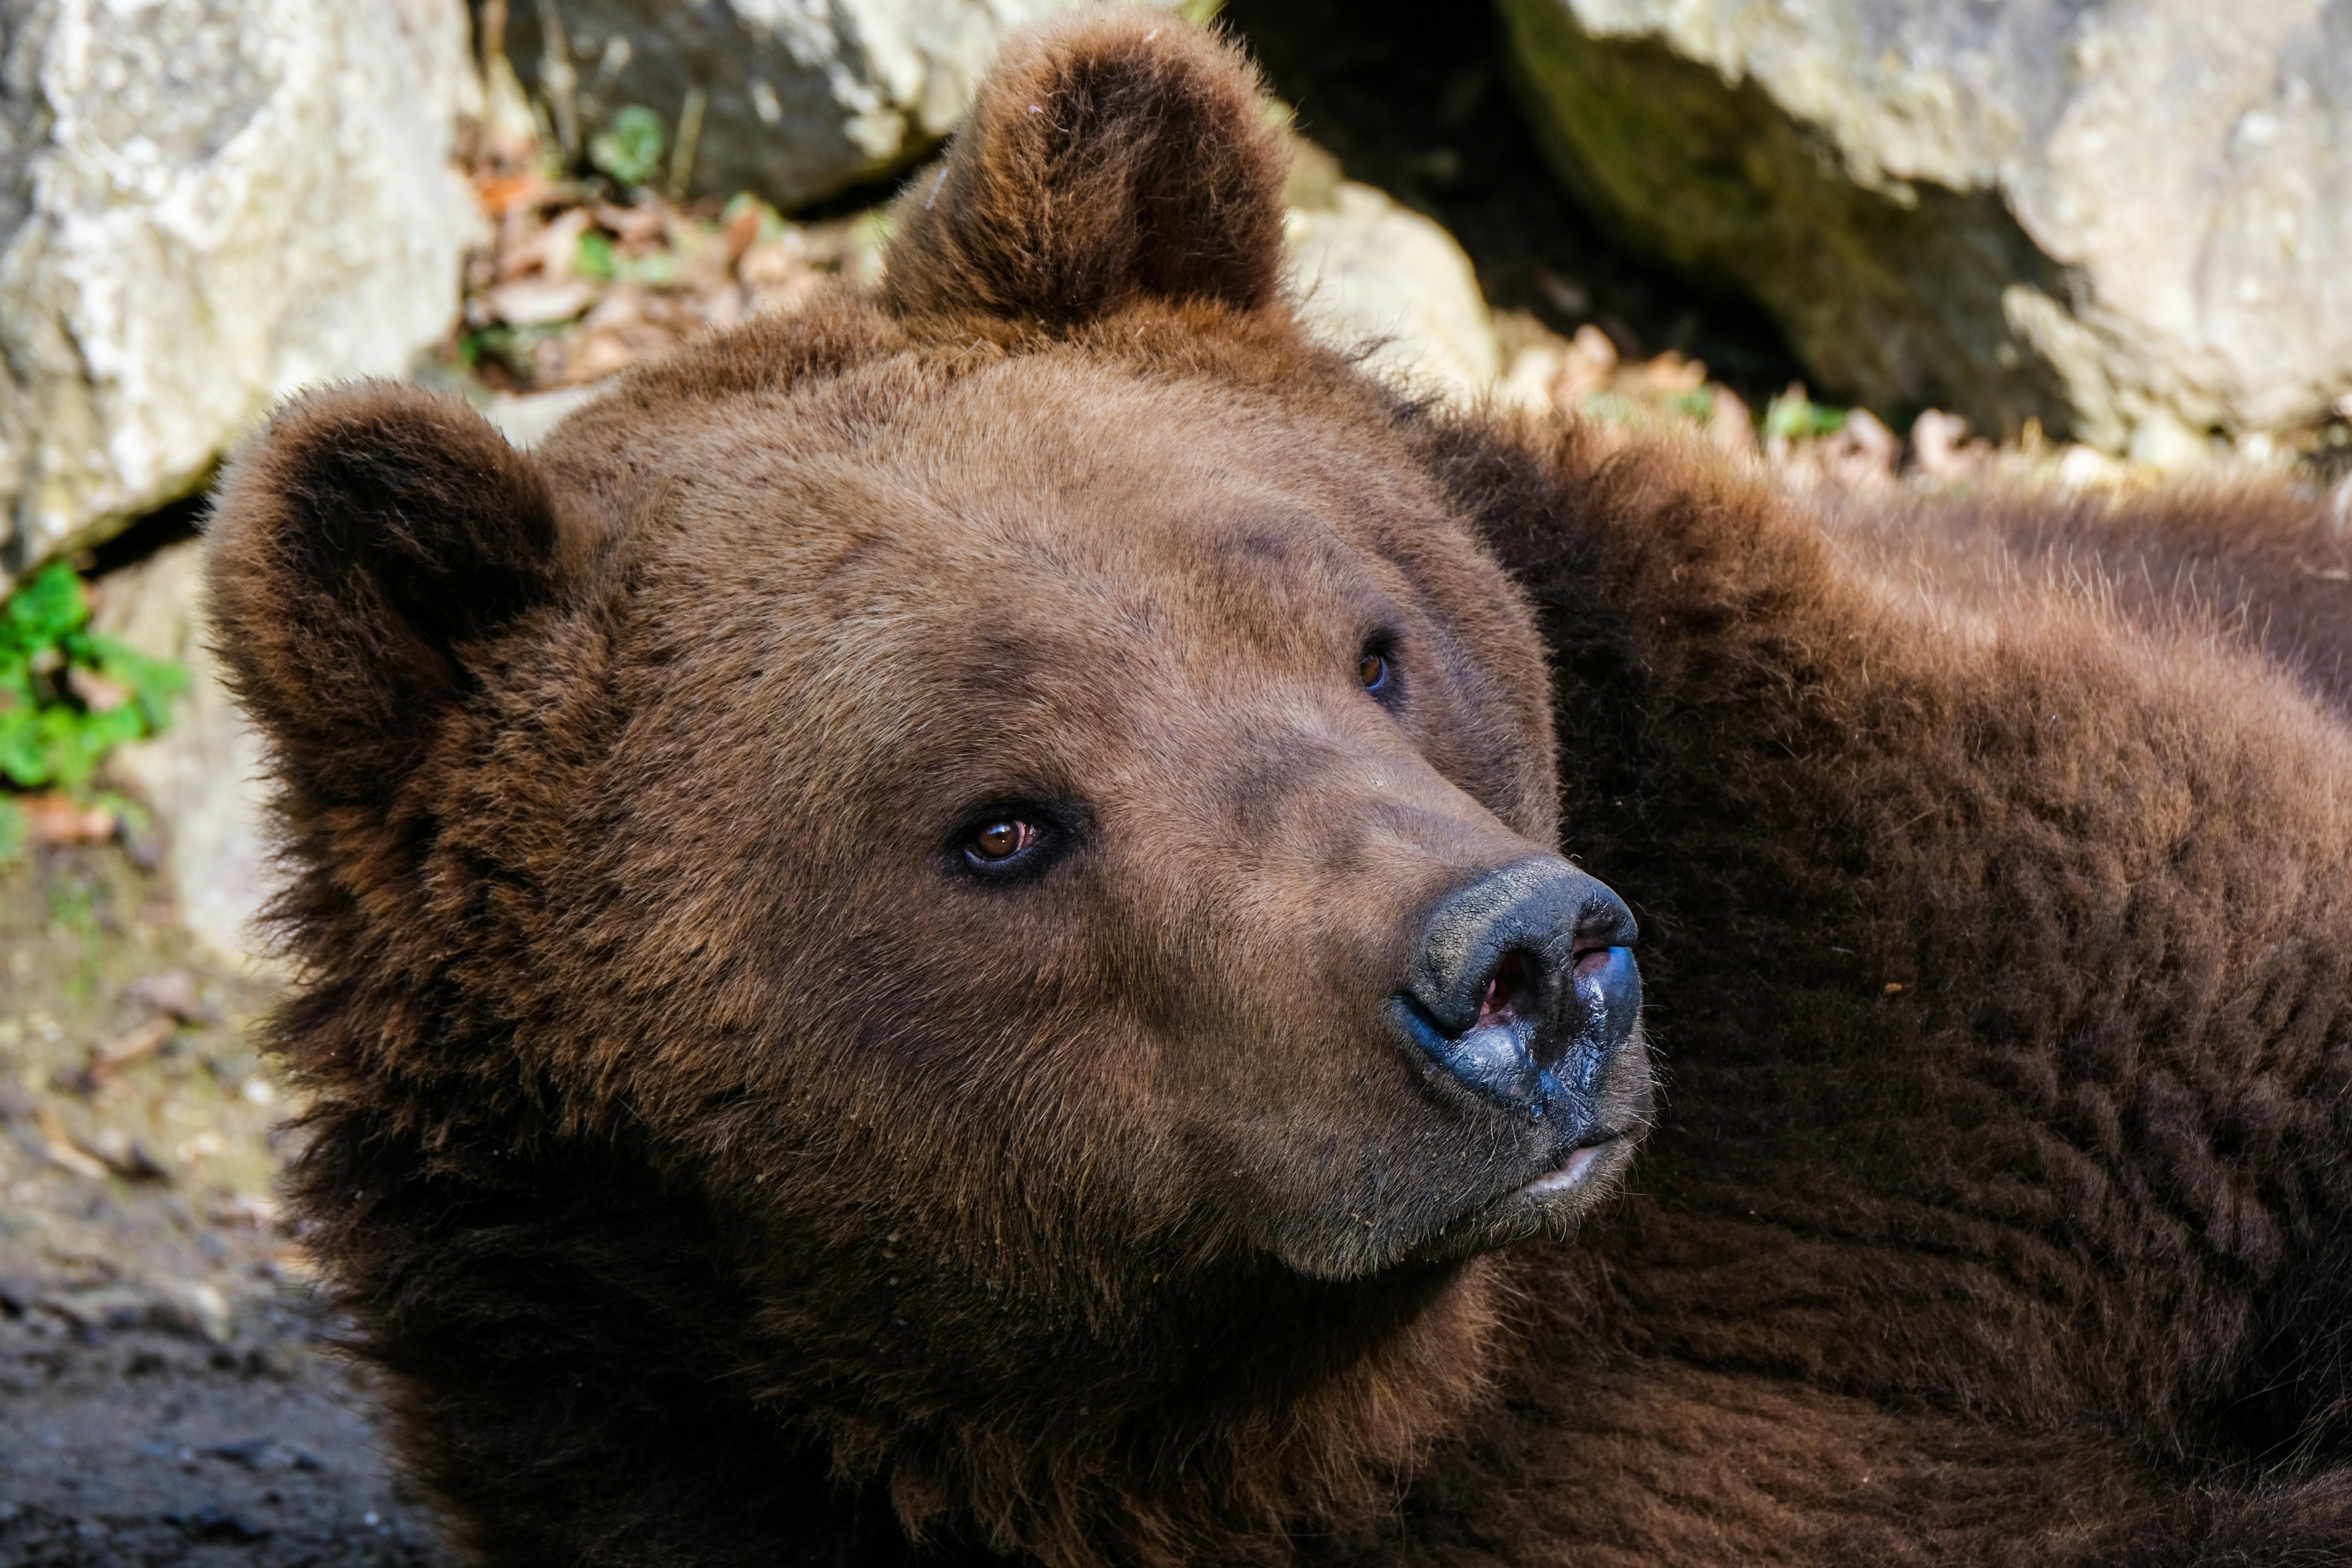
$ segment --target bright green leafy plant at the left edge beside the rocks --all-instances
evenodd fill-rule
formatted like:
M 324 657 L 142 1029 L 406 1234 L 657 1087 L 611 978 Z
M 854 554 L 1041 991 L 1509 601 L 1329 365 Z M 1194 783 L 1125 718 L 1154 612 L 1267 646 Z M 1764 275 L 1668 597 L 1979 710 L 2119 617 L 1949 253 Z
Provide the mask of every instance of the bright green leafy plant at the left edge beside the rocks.
M 188 672 L 89 628 L 89 595 L 52 562 L 0 599 L 0 780 L 87 797 L 106 752 L 172 722 Z M 0 856 L 24 813 L 0 795 Z

